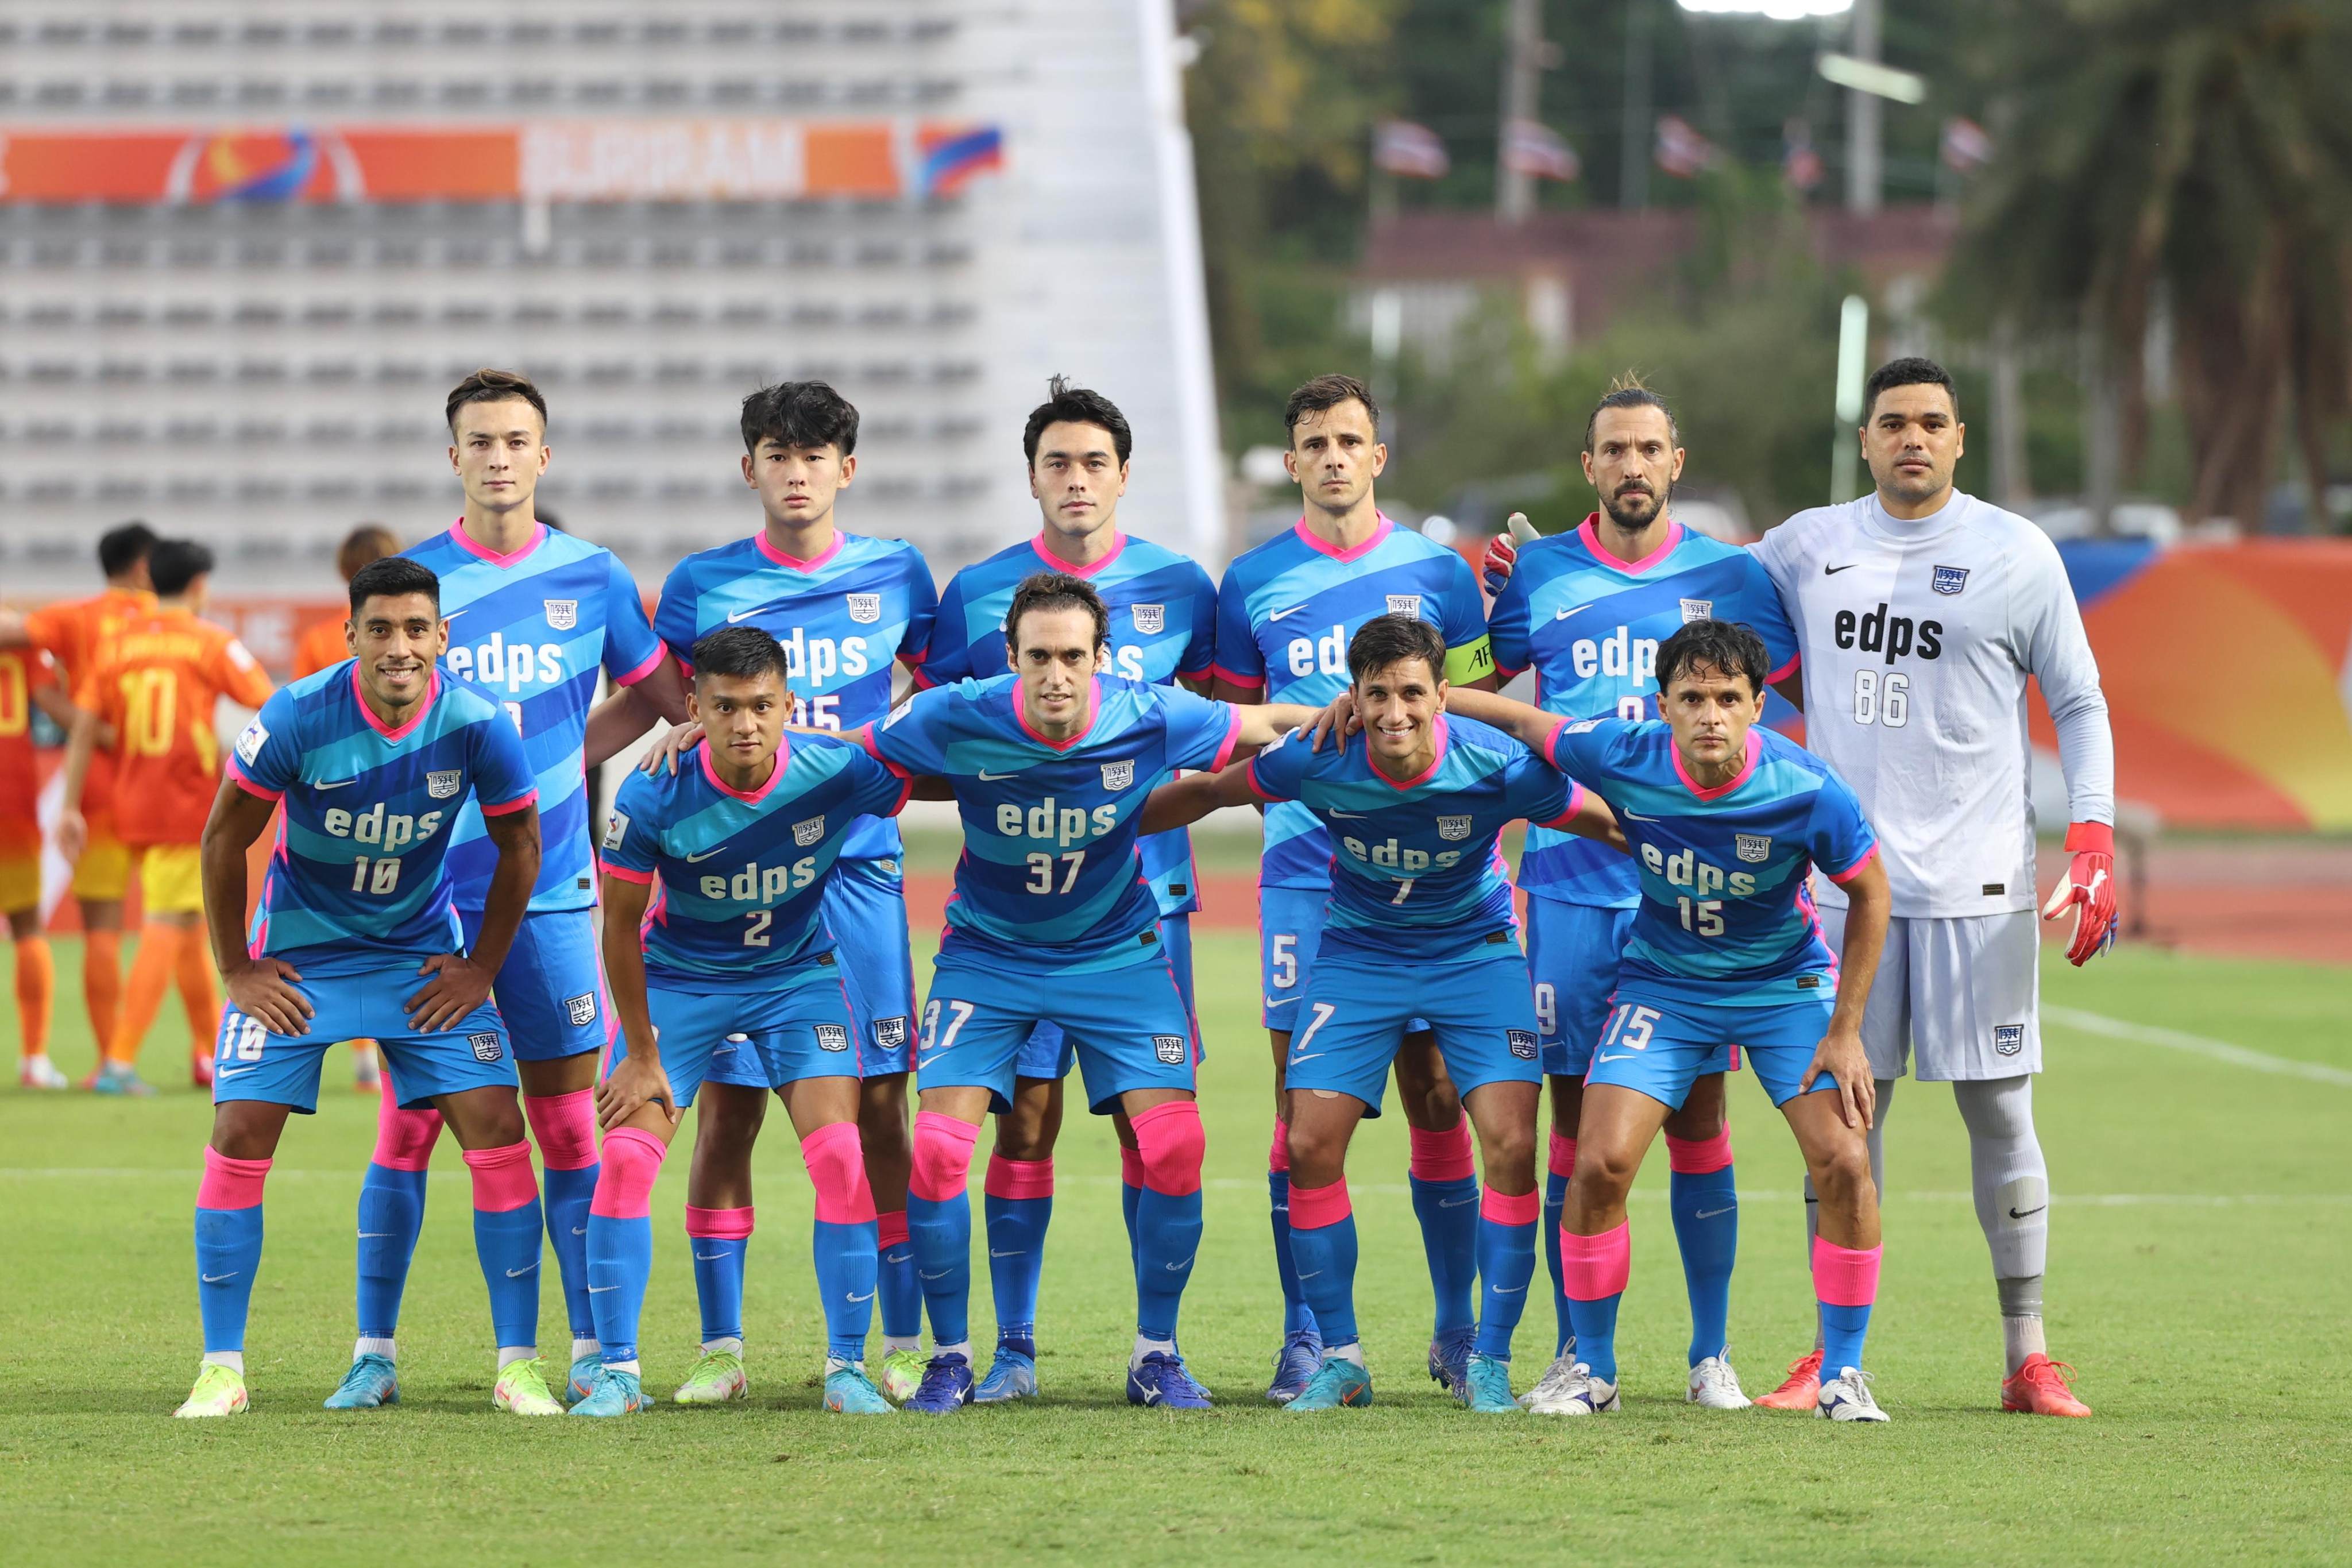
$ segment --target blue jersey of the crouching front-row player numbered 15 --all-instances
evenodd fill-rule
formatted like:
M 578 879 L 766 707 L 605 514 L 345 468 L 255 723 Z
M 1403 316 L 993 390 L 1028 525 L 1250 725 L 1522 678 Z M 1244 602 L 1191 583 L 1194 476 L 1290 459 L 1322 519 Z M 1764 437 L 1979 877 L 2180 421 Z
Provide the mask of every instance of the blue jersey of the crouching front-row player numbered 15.
M 1818 865 L 1844 882 L 1877 853 L 1863 806 L 1830 764 L 1762 724 L 1731 783 L 1691 783 L 1661 719 L 1571 719 L 1552 766 L 1599 795 L 1632 844 L 1642 907 L 1621 992 L 1778 1006 L 1837 987 L 1837 957 L 1806 893 Z

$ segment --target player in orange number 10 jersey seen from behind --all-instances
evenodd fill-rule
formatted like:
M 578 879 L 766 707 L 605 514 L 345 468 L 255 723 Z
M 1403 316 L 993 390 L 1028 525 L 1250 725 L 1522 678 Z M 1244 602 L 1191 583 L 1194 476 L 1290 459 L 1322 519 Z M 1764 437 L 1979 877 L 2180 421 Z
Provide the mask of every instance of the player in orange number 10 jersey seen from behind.
M 212 1041 L 221 1027 L 212 954 L 205 952 L 205 889 L 198 844 L 212 797 L 221 788 L 221 741 L 214 710 L 226 696 L 261 708 L 270 679 L 212 621 L 200 621 L 212 578 L 212 550 L 186 538 L 167 538 L 148 557 L 155 609 L 115 635 L 115 646 L 82 682 L 85 708 L 66 752 L 66 813 L 59 839 L 82 832 L 82 792 L 101 724 L 115 743 L 115 832 L 139 860 L 139 900 L 146 924 L 132 961 L 122 1023 L 106 1041 L 106 1063 L 89 1086 L 101 1093 L 153 1093 L 134 1067 L 162 994 L 179 976 L 188 1009 L 191 1077 L 212 1084 Z

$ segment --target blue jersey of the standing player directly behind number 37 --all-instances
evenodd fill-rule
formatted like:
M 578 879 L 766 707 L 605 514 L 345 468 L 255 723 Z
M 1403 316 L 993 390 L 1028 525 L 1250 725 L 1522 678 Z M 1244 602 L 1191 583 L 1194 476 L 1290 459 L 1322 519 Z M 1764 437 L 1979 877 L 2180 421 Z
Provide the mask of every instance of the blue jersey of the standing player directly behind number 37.
M 1068 571 L 1094 583 L 1110 609 L 1110 672 L 1124 679 L 1169 684 L 1209 679 L 1216 663 L 1216 583 L 1190 555 L 1148 538 L 1120 534 L 1110 555 L 1091 567 L 1073 567 L 1044 548 L 1042 538 L 997 550 L 964 567 L 938 595 L 931 646 L 915 672 L 922 686 L 960 679 L 993 679 L 1004 661 L 1004 614 L 1014 590 L 1040 571 Z M 1143 875 L 1162 914 L 1200 907 L 1188 832 L 1155 832 L 1141 844 Z

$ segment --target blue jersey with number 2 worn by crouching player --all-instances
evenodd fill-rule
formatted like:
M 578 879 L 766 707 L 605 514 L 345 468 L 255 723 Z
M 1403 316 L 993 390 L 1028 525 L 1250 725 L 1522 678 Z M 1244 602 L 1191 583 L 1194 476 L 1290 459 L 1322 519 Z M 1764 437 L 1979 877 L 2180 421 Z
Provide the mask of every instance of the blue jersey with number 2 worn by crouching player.
M 826 877 L 866 818 L 906 806 L 908 776 L 833 736 L 786 736 L 776 771 L 734 790 L 696 745 L 673 776 L 633 771 L 604 823 L 604 870 L 661 891 L 644 973 L 666 987 L 776 990 L 833 952 Z

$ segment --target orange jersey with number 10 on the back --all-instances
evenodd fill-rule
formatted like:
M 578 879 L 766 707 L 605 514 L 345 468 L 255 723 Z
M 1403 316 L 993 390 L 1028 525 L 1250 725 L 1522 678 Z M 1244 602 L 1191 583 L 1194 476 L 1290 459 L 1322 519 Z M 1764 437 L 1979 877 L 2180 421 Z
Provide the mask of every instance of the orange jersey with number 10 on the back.
M 186 609 L 125 623 L 82 682 L 82 708 L 115 726 L 115 835 L 125 844 L 195 844 L 221 788 L 214 708 L 270 698 L 245 644 Z

